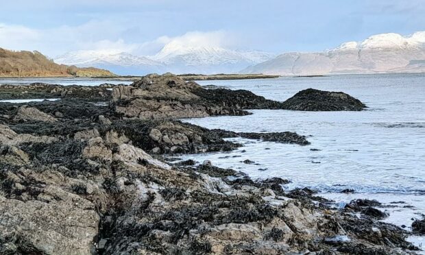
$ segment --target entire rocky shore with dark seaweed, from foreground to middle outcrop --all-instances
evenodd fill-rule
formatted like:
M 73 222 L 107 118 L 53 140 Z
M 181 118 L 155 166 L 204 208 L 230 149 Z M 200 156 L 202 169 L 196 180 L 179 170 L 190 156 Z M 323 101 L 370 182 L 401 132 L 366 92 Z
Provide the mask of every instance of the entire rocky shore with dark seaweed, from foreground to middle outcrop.
M 231 150 L 241 145 L 224 138 L 236 136 L 308 145 L 291 132 L 236 133 L 175 120 L 282 103 L 243 90 L 206 91 L 173 75 L 114 87 L 106 106 L 71 95 L 81 94 L 0 103 L 0 254 L 417 250 L 405 241 L 409 232 L 378 221 L 386 217 L 374 208 L 378 202 L 358 199 L 337 209 L 315 191 L 284 191 L 289 180 L 162 160 Z

